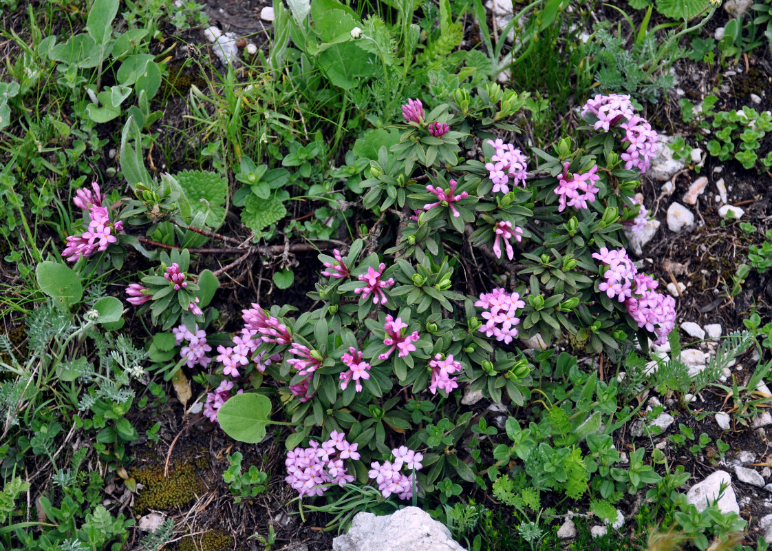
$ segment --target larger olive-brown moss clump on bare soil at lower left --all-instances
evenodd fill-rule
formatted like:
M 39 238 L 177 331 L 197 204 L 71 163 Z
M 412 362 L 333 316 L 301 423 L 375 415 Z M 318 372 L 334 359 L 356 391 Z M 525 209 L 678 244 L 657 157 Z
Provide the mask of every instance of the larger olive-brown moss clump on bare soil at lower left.
M 183 507 L 204 490 L 204 483 L 195 474 L 193 465 L 181 461 L 176 461 L 169 469 L 168 477 L 164 477 L 161 467 L 135 469 L 131 476 L 144 485 L 134 500 L 134 509 L 139 513 Z

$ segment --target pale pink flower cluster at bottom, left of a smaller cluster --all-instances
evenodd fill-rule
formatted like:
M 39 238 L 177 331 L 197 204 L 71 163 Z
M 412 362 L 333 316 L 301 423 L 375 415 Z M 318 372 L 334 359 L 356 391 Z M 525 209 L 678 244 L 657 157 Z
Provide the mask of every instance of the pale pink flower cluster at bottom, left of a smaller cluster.
M 344 459 L 357 461 L 359 444 L 349 444 L 344 433 L 333 430 L 330 440 L 319 443 L 311 440 L 309 447 L 296 447 L 287 453 L 284 464 L 287 484 L 295 488 L 300 497 L 303 495 L 324 495 L 325 484 L 337 484 L 343 488 L 347 482 L 354 481 L 353 474 L 347 474 Z

